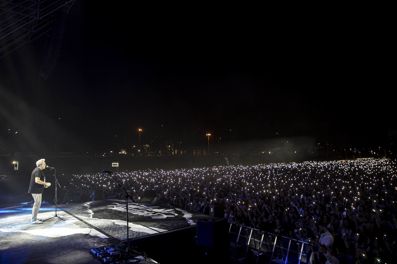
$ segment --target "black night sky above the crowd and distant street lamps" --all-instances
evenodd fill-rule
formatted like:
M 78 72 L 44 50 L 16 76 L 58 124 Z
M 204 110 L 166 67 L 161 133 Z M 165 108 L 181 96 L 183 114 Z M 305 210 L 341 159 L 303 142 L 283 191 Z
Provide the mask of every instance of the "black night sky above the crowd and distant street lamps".
M 11 129 L 18 148 L 35 148 L 37 103 L 39 150 L 129 148 L 138 128 L 141 143 L 227 142 L 230 129 L 234 141 L 324 142 L 324 124 L 329 142 L 360 148 L 395 128 L 391 37 L 377 25 L 93 3 L 72 6 L 48 80 L 46 36 L 0 59 L 2 146 Z

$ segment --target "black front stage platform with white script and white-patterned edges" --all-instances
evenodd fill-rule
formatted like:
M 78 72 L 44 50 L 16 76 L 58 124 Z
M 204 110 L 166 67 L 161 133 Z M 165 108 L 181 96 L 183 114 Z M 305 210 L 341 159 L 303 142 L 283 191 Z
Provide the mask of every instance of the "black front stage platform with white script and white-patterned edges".
M 60 205 L 60 209 L 107 237 L 127 239 L 125 201 L 102 200 Z M 199 218 L 213 218 L 164 205 L 128 203 L 129 238 L 194 226 Z

